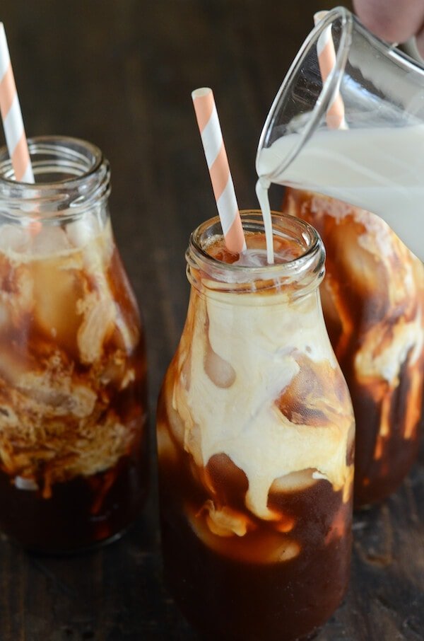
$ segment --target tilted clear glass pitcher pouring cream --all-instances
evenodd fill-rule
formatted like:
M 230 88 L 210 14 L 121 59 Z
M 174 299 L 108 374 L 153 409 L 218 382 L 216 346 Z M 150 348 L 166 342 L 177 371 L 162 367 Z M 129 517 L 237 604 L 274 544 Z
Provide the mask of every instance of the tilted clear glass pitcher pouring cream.
M 317 47 L 329 34 L 334 60 L 323 80 Z M 346 8 L 329 11 L 271 106 L 257 173 L 264 188 L 290 185 L 378 214 L 424 260 L 424 67 Z

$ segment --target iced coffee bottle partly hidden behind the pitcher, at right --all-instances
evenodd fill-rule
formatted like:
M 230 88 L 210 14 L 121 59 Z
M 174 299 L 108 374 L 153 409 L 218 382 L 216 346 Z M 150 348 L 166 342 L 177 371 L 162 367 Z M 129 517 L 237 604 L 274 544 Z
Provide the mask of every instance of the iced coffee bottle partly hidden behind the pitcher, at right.
M 418 453 L 424 267 L 365 209 L 291 188 L 283 209 L 314 225 L 326 247 L 324 316 L 356 420 L 355 504 L 376 502 Z

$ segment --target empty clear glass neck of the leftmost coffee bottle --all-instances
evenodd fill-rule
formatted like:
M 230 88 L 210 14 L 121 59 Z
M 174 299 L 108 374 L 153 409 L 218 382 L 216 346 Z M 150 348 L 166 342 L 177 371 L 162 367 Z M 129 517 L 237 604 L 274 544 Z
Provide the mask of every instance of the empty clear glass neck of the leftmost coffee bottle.
M 75 219 L 107 201 L 110 166 L 100 149 L 68 137 L 28 139 L 35 183 L 18 183 L 5 147 L 0 149 L 0 215 Z

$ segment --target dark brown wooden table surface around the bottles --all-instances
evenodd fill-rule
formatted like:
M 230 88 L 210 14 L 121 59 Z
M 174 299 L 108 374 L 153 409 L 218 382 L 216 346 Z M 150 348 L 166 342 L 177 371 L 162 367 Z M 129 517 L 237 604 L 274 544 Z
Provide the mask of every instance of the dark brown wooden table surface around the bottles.
M 189 232 L 216 213 L 190 93 L 213 87 L 240 207 L 256 207 L 261 125 L 312 14 L 329 6 L 1 4 L 28 136 L 85 138 L 110 159 L 114 230 L 146 322 L 152 432 L 187 309 Z M 319 641 L 423 640 L 423 449 L 400 490 L 357 514 L 354 529 L 351 587 Z M 0 540 L 0 641 L 196 638 L 161 579 L 154 466 L 147 509 L 118 543 L 40 558 Z

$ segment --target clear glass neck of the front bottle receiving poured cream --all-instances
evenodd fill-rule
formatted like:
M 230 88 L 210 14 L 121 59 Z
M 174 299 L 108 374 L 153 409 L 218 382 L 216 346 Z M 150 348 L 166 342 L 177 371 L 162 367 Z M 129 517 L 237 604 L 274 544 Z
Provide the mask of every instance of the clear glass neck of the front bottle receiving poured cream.
M 249 248 L 249 235 L 264 235 L 264 222 L 259 211 L 241 212 L 242 226 Z M 222 229 L 218 217 L 194 230 L 186 252 L 187 278 L 199 293 L 240 296 L 263 296 L 269 302 L 278 298 L 298 299 L 315 291 L 324 277 L 325 251 L 318 232 L 309 224 L 287 214 L 271 214 L 273 239 L 297 243 L 296 258 L 274 265 L 247 267 L 213 258 L 208 249 L 219 238 Z M 233 297 L 231 297 L 233 299 Z

